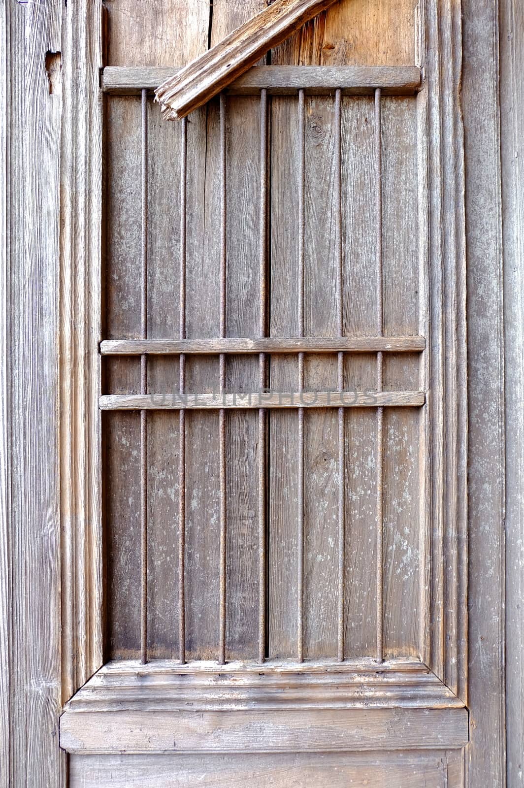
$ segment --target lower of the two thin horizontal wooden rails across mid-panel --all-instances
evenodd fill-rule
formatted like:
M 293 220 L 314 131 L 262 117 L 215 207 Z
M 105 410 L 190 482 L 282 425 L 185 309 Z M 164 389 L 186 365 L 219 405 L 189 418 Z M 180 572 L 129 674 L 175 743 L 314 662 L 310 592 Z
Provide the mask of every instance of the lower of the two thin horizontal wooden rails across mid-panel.
M 221 408 L 420 407 L 424 392 L 235 392 L 232 394 L 106 394 L 102 411 L 181 411 Z

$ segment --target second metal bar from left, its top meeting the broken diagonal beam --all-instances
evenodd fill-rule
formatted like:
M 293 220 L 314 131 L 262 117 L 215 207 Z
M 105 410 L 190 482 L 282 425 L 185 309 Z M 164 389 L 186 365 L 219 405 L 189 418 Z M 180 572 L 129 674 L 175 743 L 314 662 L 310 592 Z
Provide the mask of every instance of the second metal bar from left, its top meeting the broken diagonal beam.
M 180 339 L 186 336 L 186 199 L 188 193 L 188 121 L 182 121 L 180 148 Z M 179 388 L 184 393 L 186 385 L 186 358 L 179 359 Z M 185 526 L 186 526 L 186 412 L 178 411 L 178 649 L 180 663 L 186 661 L 185 623 Z

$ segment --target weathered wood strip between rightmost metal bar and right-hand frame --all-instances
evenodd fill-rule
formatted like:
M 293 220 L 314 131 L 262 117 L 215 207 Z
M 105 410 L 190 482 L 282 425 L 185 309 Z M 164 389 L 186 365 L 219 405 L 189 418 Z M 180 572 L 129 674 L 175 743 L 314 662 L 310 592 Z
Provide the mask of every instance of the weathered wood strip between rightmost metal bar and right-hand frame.
M 383 98 L 385 334 L 418 333 L 418 173 L 415 99 Z M 399 206 L 402 206 L 399 208 Z M 384 360 L 384 387 L 418 381 L 418 359 Z M 420 656 L 419 412 L 384 414 L 385 656 Z

